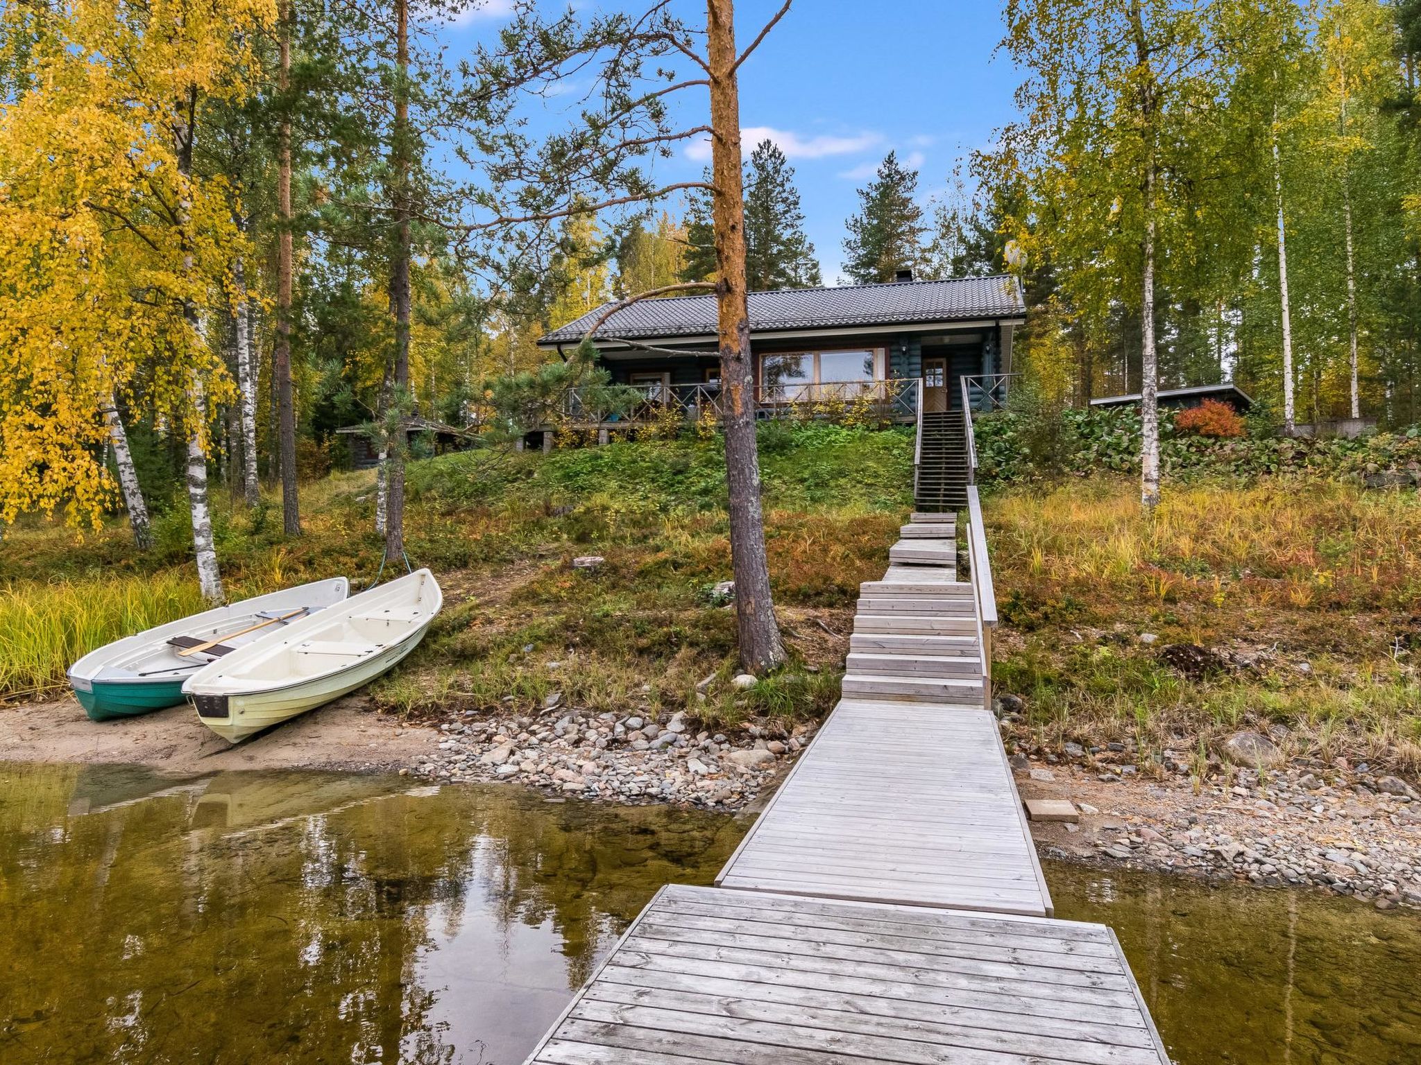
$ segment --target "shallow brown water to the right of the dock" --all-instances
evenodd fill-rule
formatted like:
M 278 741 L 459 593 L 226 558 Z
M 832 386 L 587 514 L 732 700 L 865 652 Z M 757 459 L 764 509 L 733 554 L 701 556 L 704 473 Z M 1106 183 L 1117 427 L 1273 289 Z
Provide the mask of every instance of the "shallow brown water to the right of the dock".
M 1114 926 L 1181 1065 L 1421 1062 L 1421 919 L 1312 892 L 1049 863 L 1059 917 Z

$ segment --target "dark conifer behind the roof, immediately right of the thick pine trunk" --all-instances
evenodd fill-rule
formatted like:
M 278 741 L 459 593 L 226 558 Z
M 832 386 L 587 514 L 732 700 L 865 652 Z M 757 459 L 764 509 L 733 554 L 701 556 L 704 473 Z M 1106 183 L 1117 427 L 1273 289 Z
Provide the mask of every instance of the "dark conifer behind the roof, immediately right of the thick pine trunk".
M 804 236 L 794 168 L 773 141 L 750 155 L 745 195 L 745 270 L 750 291 L 823 284 L 814 246 Z

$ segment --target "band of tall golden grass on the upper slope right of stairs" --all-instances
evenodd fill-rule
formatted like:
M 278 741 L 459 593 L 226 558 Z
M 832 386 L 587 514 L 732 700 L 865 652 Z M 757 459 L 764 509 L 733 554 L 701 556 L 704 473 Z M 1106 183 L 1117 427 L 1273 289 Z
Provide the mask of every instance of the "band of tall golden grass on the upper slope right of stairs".
M 1148 515 L 1133 483 L 1110 480 L 998 497 L 988 521 L 993 567 L 1037 589 L 1300 609 L 1411 609 L 1421 598 L 1414 491 L 1175 484 Z

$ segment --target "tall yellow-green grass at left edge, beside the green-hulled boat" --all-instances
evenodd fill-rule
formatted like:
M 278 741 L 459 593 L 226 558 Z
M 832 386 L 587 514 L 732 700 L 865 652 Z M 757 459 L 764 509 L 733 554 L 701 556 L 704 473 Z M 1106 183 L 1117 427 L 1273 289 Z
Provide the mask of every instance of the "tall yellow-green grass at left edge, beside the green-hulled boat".
M 0 586 L 0 697 L 57 692 L 94 648 L 200 609 L 198 582 L 178 572 Z

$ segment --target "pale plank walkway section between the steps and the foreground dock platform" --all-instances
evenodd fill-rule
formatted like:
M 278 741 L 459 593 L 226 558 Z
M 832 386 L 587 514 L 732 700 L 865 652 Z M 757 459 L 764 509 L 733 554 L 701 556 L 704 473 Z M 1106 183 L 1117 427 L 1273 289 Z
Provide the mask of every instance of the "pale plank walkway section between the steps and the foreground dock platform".
M 844 699 L 716 883 L 1049 916 L 992 714 Z

